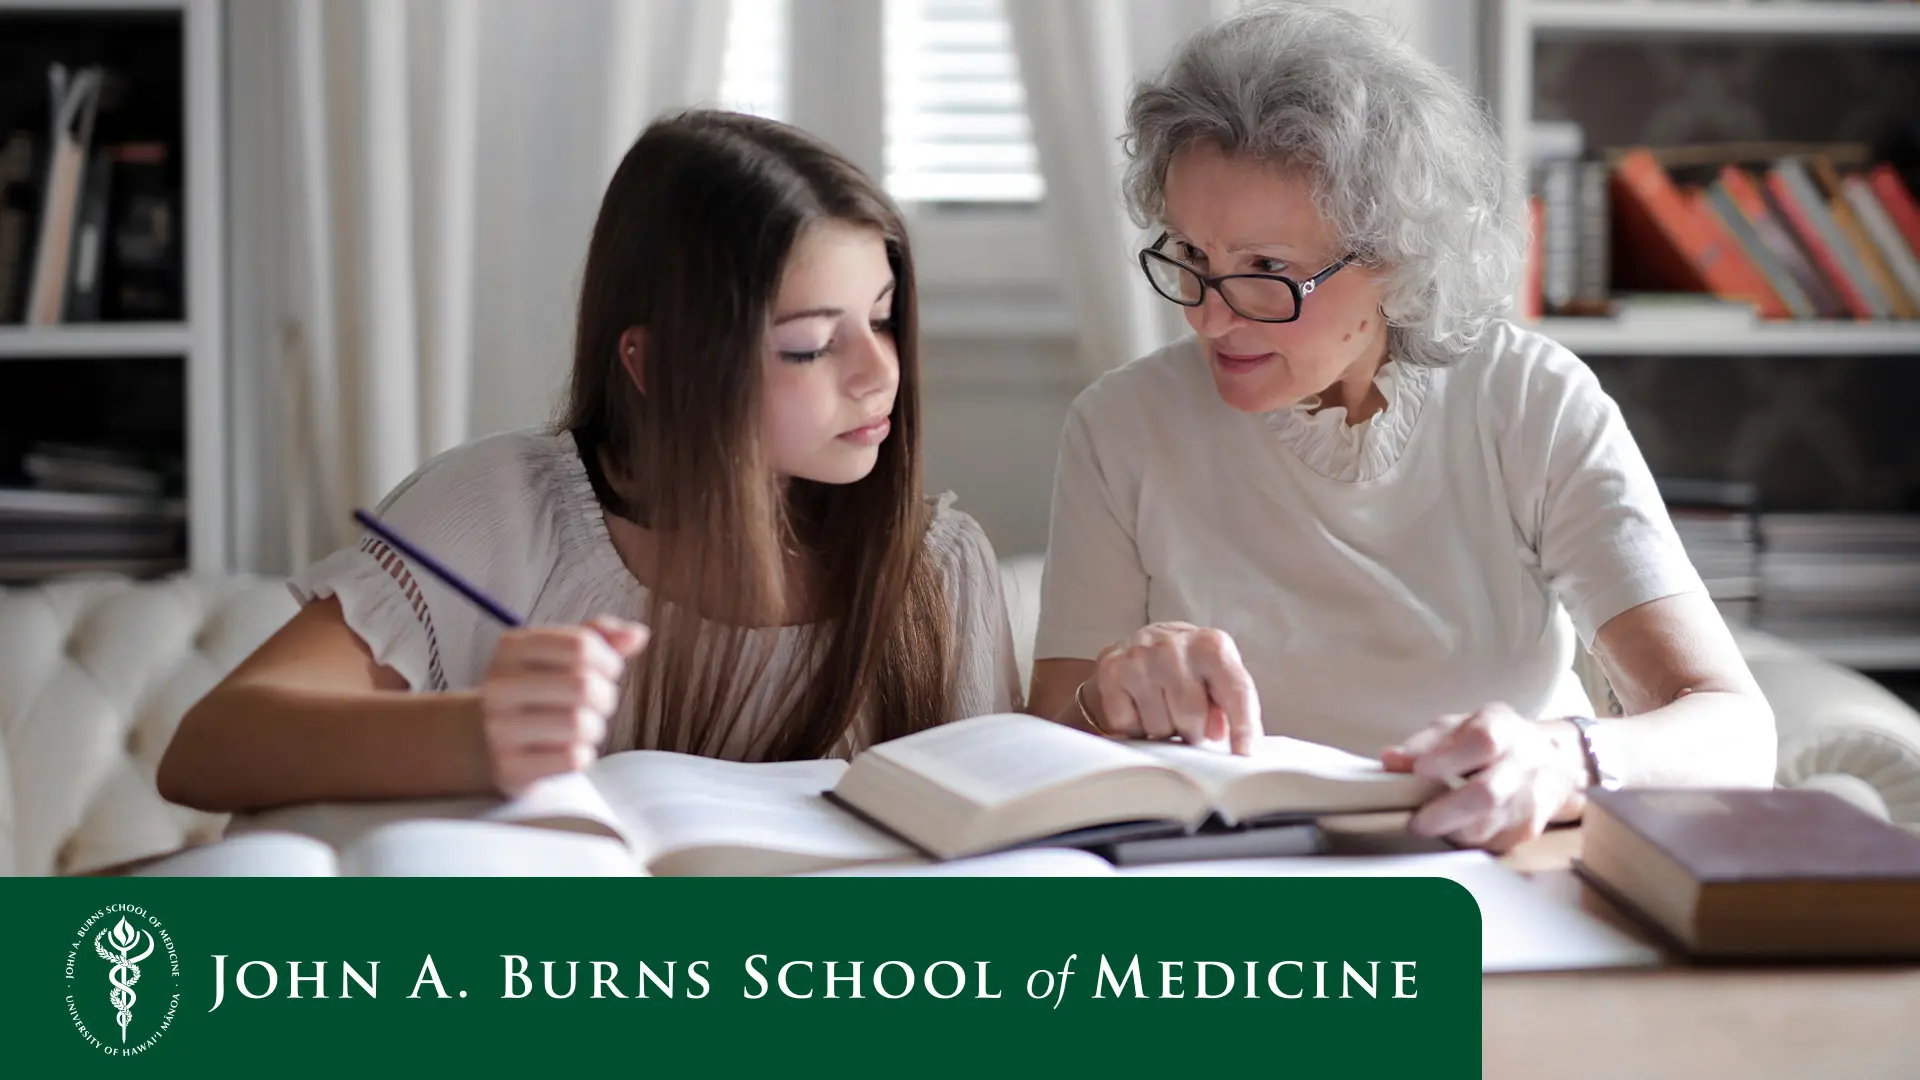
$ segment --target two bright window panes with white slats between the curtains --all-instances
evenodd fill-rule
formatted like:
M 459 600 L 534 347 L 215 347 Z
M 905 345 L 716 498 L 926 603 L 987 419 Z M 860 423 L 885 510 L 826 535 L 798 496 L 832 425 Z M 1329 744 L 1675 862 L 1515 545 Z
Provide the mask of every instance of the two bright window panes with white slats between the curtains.
M 1004 0 L 883 0 L 883 160 L 900 202 L 1043 194 Z M 733 0 L 720 100 L 787 119 L 789 0 Z

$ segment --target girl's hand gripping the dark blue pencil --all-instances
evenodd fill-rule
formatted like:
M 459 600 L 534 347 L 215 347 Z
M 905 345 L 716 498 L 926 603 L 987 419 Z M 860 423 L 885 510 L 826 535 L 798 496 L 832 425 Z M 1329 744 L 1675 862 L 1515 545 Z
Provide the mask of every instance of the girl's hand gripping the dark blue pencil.
M 645 626 L 609 617 L 501 634 L 480 682 L 493 784 L 518 796 L 541 776 L 593 761 L 620 701 L 620 673 L 643 648 Z

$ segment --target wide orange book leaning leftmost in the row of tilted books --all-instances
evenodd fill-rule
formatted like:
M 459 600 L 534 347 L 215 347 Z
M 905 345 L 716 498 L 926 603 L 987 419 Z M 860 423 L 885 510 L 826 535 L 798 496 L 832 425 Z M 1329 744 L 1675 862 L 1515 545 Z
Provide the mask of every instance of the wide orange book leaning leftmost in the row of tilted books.
M 1620 198 L 1620 263 L 1626 279 L 1655 288 L 1713 292 L 1745 300 L 1768 317 L 1786 317 L 1786 304 L 1766 284 L 1732 236 L 1709 229 L 1690 200 L 1645 150 L 1628 152 L 1613 173 Z

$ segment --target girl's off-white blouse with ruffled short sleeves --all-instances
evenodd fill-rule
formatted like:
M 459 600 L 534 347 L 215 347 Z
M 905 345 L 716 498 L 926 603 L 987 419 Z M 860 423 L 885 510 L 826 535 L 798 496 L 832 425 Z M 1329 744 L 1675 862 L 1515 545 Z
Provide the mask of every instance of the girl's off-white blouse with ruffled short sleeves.
M 570 434 L 516 430 L 449 450 L 394 488 L 378 515 L 528 625 L 595 615 L 643 621 L 647 611 L 647 588 L 614 552 Z M 1016 709 L 1020 675 L 993 546 L 972 517 L 952 507 L 952 496 L 939 500 L 925 544 L 952 617 L 950 719 Z M 374 659 L 415 690 L 478 686 L 503 632 L 372 534 L 294 575 L 290 588 L 301 603 L 338 598 Z M 816 626 L 749 630 L 749 659 L 768 657 L 770 667 L 747 696 L 749 717 L 733 724 L 726 757 L 756 753 L 764 721 L 810 673 L 814 636 Z M 632 696 L 626 680 L 614 713 L 616 748 L 647 746 L 645 732 L 622 726 L 634 717 Z M 854 724 L 837 753 L 860 749 L 870 723 L 866 717 Z

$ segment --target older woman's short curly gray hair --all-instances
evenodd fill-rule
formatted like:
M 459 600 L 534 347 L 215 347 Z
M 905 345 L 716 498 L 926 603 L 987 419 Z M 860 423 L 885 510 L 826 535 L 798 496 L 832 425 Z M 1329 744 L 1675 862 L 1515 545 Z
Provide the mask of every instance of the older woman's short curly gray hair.
M 1357 252 L 1384 271 L 1390 356 L 1452 363 L 1507 313 L 1526 238 L 1498 129 L 1384 25 L 1277 4 L 1187 38 L 1127 106 L 1127 208 L 1139 225 L 1162 221 L 1167 163 L 1202 140 L 1306 169 L 1344 242 L 1331 254 Z

